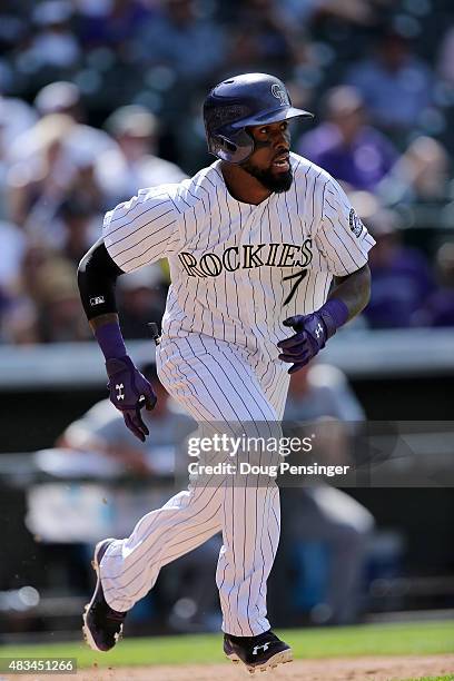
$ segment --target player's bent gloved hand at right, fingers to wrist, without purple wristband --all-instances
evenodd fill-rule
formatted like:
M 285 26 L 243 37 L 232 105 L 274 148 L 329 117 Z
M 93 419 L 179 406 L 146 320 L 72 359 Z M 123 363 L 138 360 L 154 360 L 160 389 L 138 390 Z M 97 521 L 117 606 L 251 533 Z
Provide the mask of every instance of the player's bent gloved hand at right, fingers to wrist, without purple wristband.
M 292 364 L 288 373 L 294 374 L 325 347 L 328 334 L 324 319 L 317 313 L 295 315 L 285 319 L 283 324 L 296 332 L 294 336 L 277 344 L 282 349 L 279 359 Z

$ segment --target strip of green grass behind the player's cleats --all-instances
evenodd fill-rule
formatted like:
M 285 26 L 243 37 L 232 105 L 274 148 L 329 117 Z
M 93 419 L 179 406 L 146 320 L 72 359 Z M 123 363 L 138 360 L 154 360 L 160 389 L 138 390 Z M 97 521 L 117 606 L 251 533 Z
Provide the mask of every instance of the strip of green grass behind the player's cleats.
M 292 644 L 297 659 L 428 655 L 454 652 L 454 622 L 448 621 L 302 629 L 279 633 Z M 95 662 L 99 667 L 129 667 L 224 661 L 219 634 L 125 639 L 108 654 L 93 653 L 83 643 L 2 645 L 1 657 L 77 658 L 79 668 L 91 667 Z M 454 675 L 441 679 L 454 681 Z

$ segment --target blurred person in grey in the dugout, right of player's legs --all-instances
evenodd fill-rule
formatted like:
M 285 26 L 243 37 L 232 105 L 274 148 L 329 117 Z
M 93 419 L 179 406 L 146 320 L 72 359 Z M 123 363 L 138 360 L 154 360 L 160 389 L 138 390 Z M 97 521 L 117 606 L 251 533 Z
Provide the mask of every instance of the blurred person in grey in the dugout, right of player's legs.
M 352 437 L 362 421 L 364 411 L 338 368 L 310 363 L 293 374 L 284 428 L 289 422 L 308 422 L 308 433 L 316 433 L 318 462 L 348 462 Z M 373 516 L 354 499 L 323 482 L 283 488 L 282 494 L 283 510 L 287 512 L 284 524 L 287 545 L 295 547 L 294 560 L 299 556 L 305 563 L 310 546 L 322 544 L 326 550 L 327 580 L 320 590 L 322 601 L 310 604 L 312 620 L 324 624 L 356 621 Z M 307 583 L 310 580 L 307 565 L 303 565 L 303 573 L 304 568 L 306 575 L 303 574 L 298 591 L 304 591 L 305 579 Z M 318 569 L 323 572 L 322 565 Z M 300 594 L 295 600 L 298 598 Z

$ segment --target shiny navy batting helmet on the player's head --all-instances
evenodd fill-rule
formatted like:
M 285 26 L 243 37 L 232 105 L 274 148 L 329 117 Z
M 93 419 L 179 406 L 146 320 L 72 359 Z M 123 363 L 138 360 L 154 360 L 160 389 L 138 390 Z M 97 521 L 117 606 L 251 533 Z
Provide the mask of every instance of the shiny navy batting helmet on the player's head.
M 288 118 L 313 118 L 292 106 L 287 88 L 267 73 L 243 73 L 223 80 L 207 95 L 204 122 L 208 150 L 229 164 L 241 164 L 254 151 L 247 126 L 260 126 Z

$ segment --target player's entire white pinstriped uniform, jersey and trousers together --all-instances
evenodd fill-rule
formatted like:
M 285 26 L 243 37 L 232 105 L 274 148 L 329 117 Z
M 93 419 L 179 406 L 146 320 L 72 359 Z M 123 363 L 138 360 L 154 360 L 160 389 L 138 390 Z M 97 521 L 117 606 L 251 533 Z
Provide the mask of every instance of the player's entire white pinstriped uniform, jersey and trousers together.
M 320 307 L 333 275 L 362 267 L 374 245 L 365 228 L 351 225 L 352 207 L 337 182 L 299 156 L 290 160 L 290 190 L 258 206 L 230 196 L 216 161 L 178 185 L 140 190 L 105 218 L 106 247 L 125 272 L 169 259 L 158 371 L 203 433 L 221 422 L 234 434 L 278 434 L 289 377 L 276 344 L 292 333 L 282 322 Z M 246 461 L 249 454 L 240 452 Z M 269 454 L 258 456 L 263 463 Z M 162 565 L 221 530 L 223 629 L 261 633 L 269 629 L 266 582 L 279 524 L 273 478 L 260 485 L 256 477 L 241 485 L 233 476 L 193 478 L 109 546 L 101 564 L 106 598 L 129 610 Z

